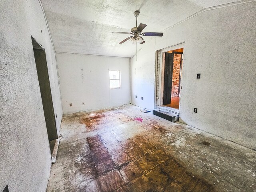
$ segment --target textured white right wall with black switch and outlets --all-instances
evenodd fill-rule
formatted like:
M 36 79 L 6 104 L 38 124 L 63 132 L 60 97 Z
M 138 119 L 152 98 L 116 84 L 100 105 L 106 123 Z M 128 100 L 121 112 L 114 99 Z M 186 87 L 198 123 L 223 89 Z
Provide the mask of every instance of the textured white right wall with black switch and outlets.
M 155 51 L 185 42 L 180 120 L 256 149 L 255 11 L 255 1 L 207 10 L 147 40 L 131 60 L 132 104 L 154 108 Z

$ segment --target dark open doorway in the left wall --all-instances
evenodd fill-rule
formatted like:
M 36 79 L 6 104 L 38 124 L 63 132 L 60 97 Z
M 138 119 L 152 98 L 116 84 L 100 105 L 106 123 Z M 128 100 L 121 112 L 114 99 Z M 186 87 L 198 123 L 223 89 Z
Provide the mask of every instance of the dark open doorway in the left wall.
M 32 36 L 31 38 L 32 38 L 32 45 L 33 45 L 35 62 L 36 62 L 36 71 L 38 75 L 38 82 L 39 82 L 40 93 L 42 98 L 48 140 L 51 146 L 51 141 L 58 139 L 58 134 L 57 134 L 56 120 L 55 120 L 54 108 L 53 108 L 53 102 L 52 102 L 52 92 L 50 88 L 46 54 L 45 54 L 44 48 L 40 44 L 38 44 L 38 42 L 36 42 L 36 40 Z

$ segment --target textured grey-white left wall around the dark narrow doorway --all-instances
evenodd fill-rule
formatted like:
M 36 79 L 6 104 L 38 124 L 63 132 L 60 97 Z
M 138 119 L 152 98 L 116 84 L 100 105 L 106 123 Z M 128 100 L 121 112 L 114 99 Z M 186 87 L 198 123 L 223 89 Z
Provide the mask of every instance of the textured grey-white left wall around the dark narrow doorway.
M 51 157 L 31 35 L 45 48 L 57 127 L 55 53 L 38 0 L 0 1 L 0 191 L 46 190 Z

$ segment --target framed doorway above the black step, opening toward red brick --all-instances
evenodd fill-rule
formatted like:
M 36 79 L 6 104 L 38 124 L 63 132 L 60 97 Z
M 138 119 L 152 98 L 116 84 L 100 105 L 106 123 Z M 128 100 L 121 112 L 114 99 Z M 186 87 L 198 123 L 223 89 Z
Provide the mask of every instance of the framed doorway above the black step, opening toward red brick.
M 155 108 L 180 113 L 184 43 L 156 52 Z

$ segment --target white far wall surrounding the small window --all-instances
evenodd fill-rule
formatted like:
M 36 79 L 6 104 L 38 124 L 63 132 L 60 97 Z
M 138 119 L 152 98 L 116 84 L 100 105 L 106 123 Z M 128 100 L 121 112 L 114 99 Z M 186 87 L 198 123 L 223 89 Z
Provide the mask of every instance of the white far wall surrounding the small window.
M 64 114 L 130 103 L 129 58 L 63 53 L 56 56 Z M 110 89 L 108 70 L 120 70 L 121 88 Z

